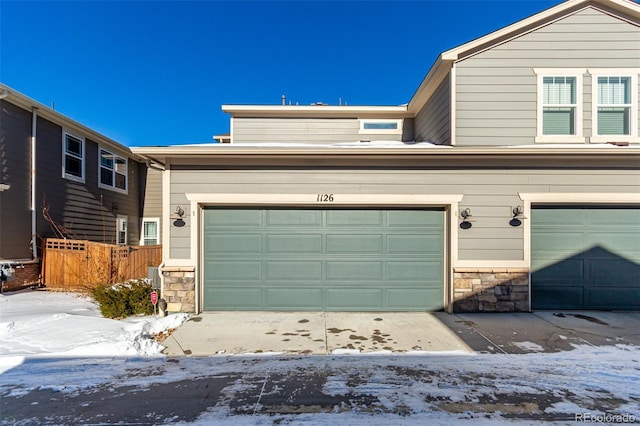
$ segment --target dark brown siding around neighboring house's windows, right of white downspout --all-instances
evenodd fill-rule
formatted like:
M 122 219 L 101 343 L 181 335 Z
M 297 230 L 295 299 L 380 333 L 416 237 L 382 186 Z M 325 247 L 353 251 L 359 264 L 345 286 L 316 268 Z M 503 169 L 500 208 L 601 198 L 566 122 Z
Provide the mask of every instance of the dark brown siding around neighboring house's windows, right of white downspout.
M 46 205 L 53 220 L 68 228 L 72 238 L 111 244 L 116 242 L 116 217 L 127 216 L 128 242 L 138 244 L 138 163 L 129 160 L 127 194 L 98 188 L 98 143 L 85 138 L 85 182 L 64 179 L 62 132 L 61 126 L 38 118 L 36 203 L 39 235 L 56 236 L 41 213 Z M 124 153 L 116 154 L 126 158 Z

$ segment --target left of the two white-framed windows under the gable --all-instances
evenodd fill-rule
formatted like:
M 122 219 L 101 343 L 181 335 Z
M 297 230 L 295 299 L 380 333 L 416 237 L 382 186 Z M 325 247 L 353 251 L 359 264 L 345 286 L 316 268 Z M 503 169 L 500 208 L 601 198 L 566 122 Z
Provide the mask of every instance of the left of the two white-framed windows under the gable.
M 538 74 L 536 142 L 584 142 L 582 74 L 584 70 L 535 70 Z

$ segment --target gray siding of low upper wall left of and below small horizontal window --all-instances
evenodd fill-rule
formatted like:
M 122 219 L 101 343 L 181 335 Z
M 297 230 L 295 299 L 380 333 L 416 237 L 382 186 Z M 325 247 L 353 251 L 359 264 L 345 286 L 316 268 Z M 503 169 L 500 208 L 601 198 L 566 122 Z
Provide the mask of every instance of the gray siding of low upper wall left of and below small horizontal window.
M 318 107 L 321 108 L 321 107 Z M 339 143 L 402 140 L 402 134 L 359 133 L 356 118 L 236 118 L 233 143 Z

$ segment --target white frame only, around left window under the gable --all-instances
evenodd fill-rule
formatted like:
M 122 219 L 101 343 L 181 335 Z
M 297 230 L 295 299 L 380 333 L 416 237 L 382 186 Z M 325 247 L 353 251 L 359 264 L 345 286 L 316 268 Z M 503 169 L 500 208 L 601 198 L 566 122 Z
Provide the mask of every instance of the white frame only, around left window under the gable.
M 583 132 L 583 76 L 585 68 L 535 68 L 533 72 L 537 77 L 536 89 L 536 143 L 585 143 Z M 575 135 L 545 135 L 543 134 L 543 111 L 544 111 L 544 78 L 545 77 L 574 77 L 576 79 L 576 114 L 575 114 Z

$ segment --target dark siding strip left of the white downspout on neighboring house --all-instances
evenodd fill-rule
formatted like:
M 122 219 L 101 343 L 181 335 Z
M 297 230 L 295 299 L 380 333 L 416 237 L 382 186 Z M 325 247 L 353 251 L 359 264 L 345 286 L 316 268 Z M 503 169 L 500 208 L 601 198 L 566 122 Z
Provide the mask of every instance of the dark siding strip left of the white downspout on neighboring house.
M 0 101 L 0 259 L 31 258 L 31 112 Z

